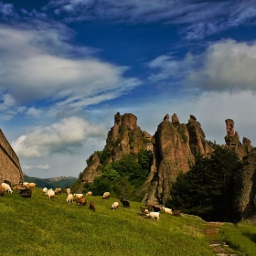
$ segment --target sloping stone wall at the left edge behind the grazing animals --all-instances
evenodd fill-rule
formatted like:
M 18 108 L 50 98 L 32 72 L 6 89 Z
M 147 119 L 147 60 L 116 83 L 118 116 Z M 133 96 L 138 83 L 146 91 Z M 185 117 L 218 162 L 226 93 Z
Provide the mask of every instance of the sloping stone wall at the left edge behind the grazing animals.
M 12 184 L 24 181 L 19 159 L 0 129 L 0 183 L 5 179 Z

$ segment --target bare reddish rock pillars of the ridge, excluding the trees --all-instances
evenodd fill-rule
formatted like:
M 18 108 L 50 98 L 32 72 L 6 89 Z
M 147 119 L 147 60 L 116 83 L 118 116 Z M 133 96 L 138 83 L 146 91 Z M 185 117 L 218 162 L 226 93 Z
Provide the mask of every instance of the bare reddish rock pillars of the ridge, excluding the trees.
M 240 137 L 234 131 L 234 122 L 225 121 L 227 134 L 224 137 L 224 147 L 237 152 L 244 167 L 240 171 L 240 183 L 236 185 L 237 199 L 234 202 L 237 215 L 248 219 L 255 215 L 255 187 L 256 187 L 256 149 L 248 138 Z M 206 140 L 206 135 L 197 122 L 197 118 L 190 114 L 187 123 L 180 123 L 176 113 L 171 117 L 166 114 L 162 123 L 159 123 L 153 136 L 143 132 L 137 125 L 137 117 L 132 113 L 123 115 L 117 112 L 114 115 L 114 125 L 108 133 L 104 150 L 109 150 L 109 161 L 120 160 L 123 155 L 137 154 L 140 149 L 147 149 L 153 154 L 151 171 L 138 190 L 143 195 L 143 203 L 165 204 L 169 198 L 172 183 L 179 172 L 186 173 L 194 163 L 197 153 L 207 155 L 212 147 Z M 91 155 L 90 164 L 82 173 L 82 182 L 93 182 L 95 176 L 101 176 L 99 156 Z

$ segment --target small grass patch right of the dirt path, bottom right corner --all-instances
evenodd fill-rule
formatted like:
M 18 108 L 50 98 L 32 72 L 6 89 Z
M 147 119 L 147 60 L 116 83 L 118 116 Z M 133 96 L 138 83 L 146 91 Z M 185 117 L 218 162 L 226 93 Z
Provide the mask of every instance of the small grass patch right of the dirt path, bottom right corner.
M 226 241 L 231 248 L 243 252 L 245 255 L 256 256 L 256 227 L 239 223 L 225 223 L 221 226 L 220 240 Z

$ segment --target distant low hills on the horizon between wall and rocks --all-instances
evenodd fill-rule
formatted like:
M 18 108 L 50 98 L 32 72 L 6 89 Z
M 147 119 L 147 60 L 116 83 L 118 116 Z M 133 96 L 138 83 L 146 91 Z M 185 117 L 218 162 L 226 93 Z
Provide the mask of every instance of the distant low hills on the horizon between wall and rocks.
M 70 187 L 78 178 L 74 176 L 58 176 L 50 178 L 38 178 L 24 175 L 24 180 L 27 182 L 35 182 L 37 187 Z

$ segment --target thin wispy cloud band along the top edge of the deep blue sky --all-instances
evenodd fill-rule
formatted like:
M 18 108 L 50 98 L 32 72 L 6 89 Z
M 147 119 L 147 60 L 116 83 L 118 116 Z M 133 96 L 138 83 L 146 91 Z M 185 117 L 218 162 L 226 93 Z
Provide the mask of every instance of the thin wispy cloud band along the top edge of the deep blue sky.
M 82 7 L 81 7 L 82 6 Z M 181 24 L 187 39 L 206 37 L 228 27 L 250 23 L 256 16 L 253 0 L 159 1 L 159 0 L 101 0 L 50 1 L 43 10 L 62 15 L 67 22 L 82 20 L 111 20 L 119 23 Z

